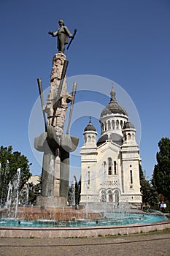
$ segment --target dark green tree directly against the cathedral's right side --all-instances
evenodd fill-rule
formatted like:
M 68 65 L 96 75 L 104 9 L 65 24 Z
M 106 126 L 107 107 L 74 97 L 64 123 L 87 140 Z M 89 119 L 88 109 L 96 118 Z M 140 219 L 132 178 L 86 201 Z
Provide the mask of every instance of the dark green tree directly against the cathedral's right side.
M 144 176 L 142 166 L 139 165 L 139 176 L 142 192 L 142 202 L 145 206 L 156 207 L 158 206 L 158 193 L 155 188 L 152 187 L 150 181 Z

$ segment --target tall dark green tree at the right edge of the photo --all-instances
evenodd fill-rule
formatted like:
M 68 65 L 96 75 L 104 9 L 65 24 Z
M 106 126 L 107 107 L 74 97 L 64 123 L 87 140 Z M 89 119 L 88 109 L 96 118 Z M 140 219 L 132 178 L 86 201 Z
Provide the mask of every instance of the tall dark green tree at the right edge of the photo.
M 156 154 L 158 164 L 152 175 L 152 185 L 159 195 L 170 201 L 170 139 L 161 138 L 158 143 L 160 149 Z

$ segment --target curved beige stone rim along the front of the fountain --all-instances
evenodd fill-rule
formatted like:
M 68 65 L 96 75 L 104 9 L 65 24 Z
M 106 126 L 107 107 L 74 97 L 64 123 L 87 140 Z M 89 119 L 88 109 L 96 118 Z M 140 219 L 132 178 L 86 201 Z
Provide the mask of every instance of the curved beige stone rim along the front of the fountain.
M 96 227 L 0 227 L 0 237 L 8 238 L 77 238 L 117 236 L 133 233 L 147 233 L 170 228 L 170 220 L 164 222 L 96 226 Z

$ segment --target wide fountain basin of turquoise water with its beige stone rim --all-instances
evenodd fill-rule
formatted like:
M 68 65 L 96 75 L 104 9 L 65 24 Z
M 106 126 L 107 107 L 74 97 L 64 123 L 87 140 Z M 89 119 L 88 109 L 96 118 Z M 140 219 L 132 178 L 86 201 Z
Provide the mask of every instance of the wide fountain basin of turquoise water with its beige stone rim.
M 85 219 L 85 211 L 74 209 L 56 210 L 55 219 L 1 218 L 0 237 L 17 238 L 76 238 L 115 236 L 132 233 L 146 233 L 170 228 L 170 219 L 158 214 L 108 213 L 101 217 L 99 213 L 88 213 L 91 219 Z M 31 209 L 31 214 L 34 209 Z M 39 209 L 39 211 L 42 211 Z M 44 211 L 44 210 L 43 210 Z M 37 211 L 36 211 L 37 214 Z M 52 212 L 51 212 L 52 214 Z M 59 215 L 58 215 L 59 214 Z M 76 215 L 77 214 L 77 215 Z M 32 215 L 30 215 L 33 217 Z M 34 217 L 38 215 L 34 215 Z M 21 215 L 20 215 L 21 217 Z M 53 217 L 53 214 L 51 215 Z M 99 218 L 101 217 L 101 218 Z M 66 220 L 67 219 L 67 220 Z M 6 225 L 6 226 L 5 226 Z

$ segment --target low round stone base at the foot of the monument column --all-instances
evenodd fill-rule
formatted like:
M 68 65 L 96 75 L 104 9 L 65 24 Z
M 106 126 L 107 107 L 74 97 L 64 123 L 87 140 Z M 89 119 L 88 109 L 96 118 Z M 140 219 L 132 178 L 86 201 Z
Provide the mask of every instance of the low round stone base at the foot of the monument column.
M 54 197 L 54 196 L 38 196 L 36 197 L 36 206 L 43 208 L 62 208 L 67 206 L 67 197 Z

